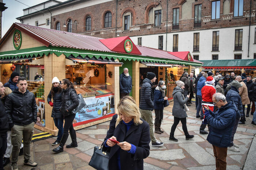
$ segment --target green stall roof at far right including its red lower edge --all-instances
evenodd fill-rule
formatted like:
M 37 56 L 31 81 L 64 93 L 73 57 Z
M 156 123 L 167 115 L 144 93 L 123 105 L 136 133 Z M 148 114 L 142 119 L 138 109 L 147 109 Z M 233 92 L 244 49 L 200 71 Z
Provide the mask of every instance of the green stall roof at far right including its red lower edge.
M 249 64 L 256 59 L 241 59 L 241 60 L 200 60 L 203 62 L 203 68 L 206 69 L 255 69 L 256 66 Z

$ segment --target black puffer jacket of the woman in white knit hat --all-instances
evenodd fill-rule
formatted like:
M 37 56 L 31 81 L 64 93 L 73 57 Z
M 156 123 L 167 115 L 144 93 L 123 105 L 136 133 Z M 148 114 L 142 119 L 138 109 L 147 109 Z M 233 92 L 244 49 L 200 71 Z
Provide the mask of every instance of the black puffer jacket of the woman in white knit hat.
M 52 108 L 52 118 L 63 118 L 61 114 L 60 107 L 61 107 L 61 91 L 57 92 L 54 96 L 52 96 L 52 90 L 49 92 L 47 96 L 47 102 L 51 102 L 53 98 L 53 108 Z

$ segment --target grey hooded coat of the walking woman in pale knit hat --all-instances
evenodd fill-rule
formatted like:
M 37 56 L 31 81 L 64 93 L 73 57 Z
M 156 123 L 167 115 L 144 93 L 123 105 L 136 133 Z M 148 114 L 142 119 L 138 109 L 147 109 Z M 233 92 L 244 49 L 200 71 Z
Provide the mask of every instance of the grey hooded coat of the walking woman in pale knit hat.
M 188 97 L 183 98 L 184 91 L 178 87 L 173 89 L 173 110 L 172 114 L 176 118 L 186 118 L 188 117 L 187 113 L 183 110 L 183 104 L 187 103 Z

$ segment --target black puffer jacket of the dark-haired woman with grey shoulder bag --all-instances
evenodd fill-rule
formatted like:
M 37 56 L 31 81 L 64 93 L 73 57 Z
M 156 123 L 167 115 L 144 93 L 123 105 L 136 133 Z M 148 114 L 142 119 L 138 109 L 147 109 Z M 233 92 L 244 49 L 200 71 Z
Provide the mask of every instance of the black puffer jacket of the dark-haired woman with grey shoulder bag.
M 70 97 L 69 97 L 69 91 L 70 91 Z M 72 100 L 73 103 L 68 106 L 67 102 L 69 99 Z M 73 110 L 78 106 L 78 104 L 79 104 L 78 96 L 74 89 L 68 87 L 65 90 L 62 90 L 60 111 L 64 117 L 71 114 L 76 114 L 73 112 Z

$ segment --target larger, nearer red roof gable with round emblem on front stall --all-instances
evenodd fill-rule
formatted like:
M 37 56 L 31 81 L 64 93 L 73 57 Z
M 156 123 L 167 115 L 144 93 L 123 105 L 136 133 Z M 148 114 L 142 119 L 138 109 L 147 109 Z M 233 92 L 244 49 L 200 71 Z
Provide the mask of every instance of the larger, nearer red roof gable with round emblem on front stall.
M 129 36 L 101 39 L 99 41 L 101 41 L 102 44 L 108 47 L 111 51 L 141 55 L 141 52 L 138 50 Z

